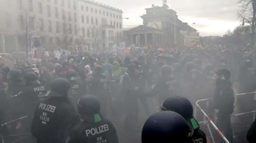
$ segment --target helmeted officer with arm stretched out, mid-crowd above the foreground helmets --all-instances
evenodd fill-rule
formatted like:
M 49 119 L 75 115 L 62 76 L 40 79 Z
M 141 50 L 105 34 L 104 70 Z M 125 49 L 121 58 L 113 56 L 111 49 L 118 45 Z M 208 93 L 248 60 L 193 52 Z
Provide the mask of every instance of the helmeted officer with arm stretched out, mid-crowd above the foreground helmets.
M 159 95 L 160 104 L 170 96 L 182 94 L 180 84 L 172 77 L 172 67 L 169 65 L 161 67 L 161 79 L 147 94 L 149 96 Z

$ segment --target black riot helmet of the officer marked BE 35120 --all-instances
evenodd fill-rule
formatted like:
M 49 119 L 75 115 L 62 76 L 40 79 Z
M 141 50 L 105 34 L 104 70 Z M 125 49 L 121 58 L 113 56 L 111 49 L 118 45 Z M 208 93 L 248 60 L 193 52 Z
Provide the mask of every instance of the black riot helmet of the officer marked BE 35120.
M 56 78 L 50 84 L 51 91 L 59 93 L 62 96 L 68 95 L 68 90 L 70 87 L 71 84 L 65 78 Z

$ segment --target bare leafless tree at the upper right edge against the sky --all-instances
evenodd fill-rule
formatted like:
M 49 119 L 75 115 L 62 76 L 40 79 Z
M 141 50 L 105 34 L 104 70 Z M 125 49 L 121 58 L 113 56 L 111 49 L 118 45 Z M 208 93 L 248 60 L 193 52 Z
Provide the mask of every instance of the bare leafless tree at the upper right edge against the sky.
M 256 0 L 239 0 L 238 18 L 242 26 L 250 26 L 250 46 L 255 45 Z

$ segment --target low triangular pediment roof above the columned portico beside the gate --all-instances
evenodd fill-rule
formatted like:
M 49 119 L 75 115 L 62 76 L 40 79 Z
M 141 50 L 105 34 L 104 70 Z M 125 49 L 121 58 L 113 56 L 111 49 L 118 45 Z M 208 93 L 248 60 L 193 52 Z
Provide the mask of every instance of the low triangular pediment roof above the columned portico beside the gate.
M 164 32 L 160 29 L 149 27 L 146 25 L 139 25 L 137 27 L 134 27 L 130 30 L 128 30 L 129 33 L 159 33 L 164 34 Z

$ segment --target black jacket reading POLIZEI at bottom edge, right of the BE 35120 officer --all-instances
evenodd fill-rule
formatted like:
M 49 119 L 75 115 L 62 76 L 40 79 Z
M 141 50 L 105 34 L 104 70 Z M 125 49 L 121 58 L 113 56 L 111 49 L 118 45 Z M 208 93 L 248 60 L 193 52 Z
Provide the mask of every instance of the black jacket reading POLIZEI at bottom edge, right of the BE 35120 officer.
M 118 143 L 115 127 L 108 120 L 88 122 L 74 126 L 65 143 Z

